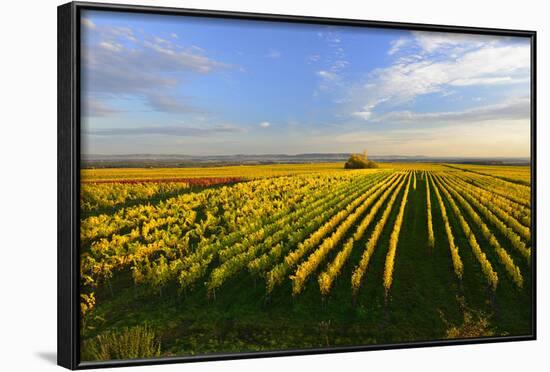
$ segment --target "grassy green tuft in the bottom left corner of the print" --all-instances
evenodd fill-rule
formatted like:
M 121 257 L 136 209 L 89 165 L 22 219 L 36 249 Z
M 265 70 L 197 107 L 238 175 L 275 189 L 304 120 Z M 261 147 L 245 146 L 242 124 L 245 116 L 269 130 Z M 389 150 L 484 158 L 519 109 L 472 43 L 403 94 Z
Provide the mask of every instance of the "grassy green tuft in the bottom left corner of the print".
M 82 348 L 82 359 L 88 361 L 159 356 L 160 341 L 147 325 L 103 332 L 84 341 Z

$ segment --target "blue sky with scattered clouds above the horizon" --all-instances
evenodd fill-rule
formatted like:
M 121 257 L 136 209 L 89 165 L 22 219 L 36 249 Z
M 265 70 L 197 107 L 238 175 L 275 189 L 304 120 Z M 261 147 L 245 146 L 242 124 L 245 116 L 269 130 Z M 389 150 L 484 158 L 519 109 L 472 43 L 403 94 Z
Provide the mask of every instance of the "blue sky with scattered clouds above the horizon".
M 86 155 L 528 157 L 528 38 L 84 11 Z

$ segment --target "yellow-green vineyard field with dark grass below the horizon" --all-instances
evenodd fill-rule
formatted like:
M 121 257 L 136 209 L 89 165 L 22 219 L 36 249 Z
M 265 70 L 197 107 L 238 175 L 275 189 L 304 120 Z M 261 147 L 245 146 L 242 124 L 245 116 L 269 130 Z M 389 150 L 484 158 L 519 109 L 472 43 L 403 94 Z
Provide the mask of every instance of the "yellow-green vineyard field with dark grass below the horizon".
M 169 355 L 441 339 L 468 314 L 489 319 L 480 335 L 530 330 L 528 167 L 82 179 L 84 342 L 144 320 Z

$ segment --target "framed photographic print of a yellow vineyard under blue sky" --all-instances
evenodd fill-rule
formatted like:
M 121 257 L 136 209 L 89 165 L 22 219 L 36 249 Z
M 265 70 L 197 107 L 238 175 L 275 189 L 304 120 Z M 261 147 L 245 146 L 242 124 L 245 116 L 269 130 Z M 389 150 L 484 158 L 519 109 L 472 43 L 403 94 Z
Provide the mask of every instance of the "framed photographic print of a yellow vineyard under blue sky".
M 533 340 L 533 31 L 58 8 L 58 361 Z

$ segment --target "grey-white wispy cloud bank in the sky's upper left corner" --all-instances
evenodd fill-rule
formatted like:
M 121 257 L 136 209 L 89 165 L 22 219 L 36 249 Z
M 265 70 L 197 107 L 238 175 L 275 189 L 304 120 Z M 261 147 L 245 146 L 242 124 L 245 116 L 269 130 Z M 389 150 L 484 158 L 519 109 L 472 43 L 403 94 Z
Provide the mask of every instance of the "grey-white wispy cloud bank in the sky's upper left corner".
M 173 36 L 167 40 L 130 27 L 88 25 L 84 37 L 82 88 L 96 101 L 133 98 L 155 111 L 200 111 L 179 93 L 185 79 L 231 67 Z

